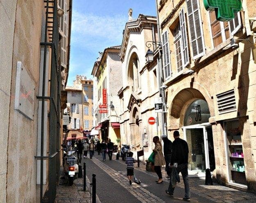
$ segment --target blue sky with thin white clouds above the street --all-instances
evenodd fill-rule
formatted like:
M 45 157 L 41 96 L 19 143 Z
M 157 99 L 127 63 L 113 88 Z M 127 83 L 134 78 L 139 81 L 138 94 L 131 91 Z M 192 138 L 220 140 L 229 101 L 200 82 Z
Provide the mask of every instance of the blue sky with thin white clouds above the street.
M 99 52 L 121 45 L 129 8 L 134 19 L 139 14 L 156 16 L 155 0 L 73 0 L 68 86 L 77 74 L 93 78 Z

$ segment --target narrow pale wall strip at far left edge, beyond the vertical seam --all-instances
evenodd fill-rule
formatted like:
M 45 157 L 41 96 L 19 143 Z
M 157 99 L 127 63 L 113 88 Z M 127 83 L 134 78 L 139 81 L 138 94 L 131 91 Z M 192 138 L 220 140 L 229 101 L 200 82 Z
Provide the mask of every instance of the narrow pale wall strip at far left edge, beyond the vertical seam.
M 7 149 L 9 106 L 11 97 L 12 52 L 14 45 L 15 11 L 17 0 L 3 0 L 0 3 L 0 199 L 6 203 Z M 5 70 L 5 71 L 2 71 Z

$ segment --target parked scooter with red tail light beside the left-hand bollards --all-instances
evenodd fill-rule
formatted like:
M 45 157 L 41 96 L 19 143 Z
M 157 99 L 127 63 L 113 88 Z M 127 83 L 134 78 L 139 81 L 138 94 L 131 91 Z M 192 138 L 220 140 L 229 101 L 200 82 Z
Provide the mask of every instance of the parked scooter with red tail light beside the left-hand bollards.
M 76 144 L 75 144 L 76 145 Z M 68 150 L 63 144 L 63 171 L 65 174 L 65 179 L 68 180 L 68 184 L 73 185 L 74 180 L 77 178 L 78 174 L 78 159 L 75 156 L 75 147 L 72 150 Z

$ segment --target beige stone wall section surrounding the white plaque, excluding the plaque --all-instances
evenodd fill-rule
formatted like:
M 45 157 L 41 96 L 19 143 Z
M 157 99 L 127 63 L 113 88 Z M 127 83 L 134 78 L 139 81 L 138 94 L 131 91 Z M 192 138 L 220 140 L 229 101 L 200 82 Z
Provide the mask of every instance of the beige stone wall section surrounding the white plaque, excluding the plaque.
M 6 1 L 7 2 L 7 1 Z M 9 4 L 16 5 L 14 1 Z M 43 2 L 18 0 L 14 31 L 11 95 L 15 94 L 17 61 L 22 61 L 39 91 L 39 62 Z M 15 15 L 14 12 L 7 12 Z M 6 22 L 5 22 L 6 23 Z M 9 35 L 11 36 L 11 35 Z M 8 50 L 8 49 L 7 49 Z M 36 199 L 36 135 L 37 99 L 34 98 L 34 120 L 27 119 L 14 110 L 14 97 L 10 100 L 7 202 L 35 202 Z

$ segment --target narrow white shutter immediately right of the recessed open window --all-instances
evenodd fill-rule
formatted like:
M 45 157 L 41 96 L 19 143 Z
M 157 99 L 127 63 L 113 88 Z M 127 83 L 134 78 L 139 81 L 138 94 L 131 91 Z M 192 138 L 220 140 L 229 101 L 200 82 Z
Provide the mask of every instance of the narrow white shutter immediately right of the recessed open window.
M 182 52 L 183 52 L 183 68 L 188 65 L 189 56 L 188 56 L 188 38 L 187 38 L 187 27 L 184 9 L 181 10 L 179 14 L 179 23 L 181 28 L 181 43 L 182 43 Z

